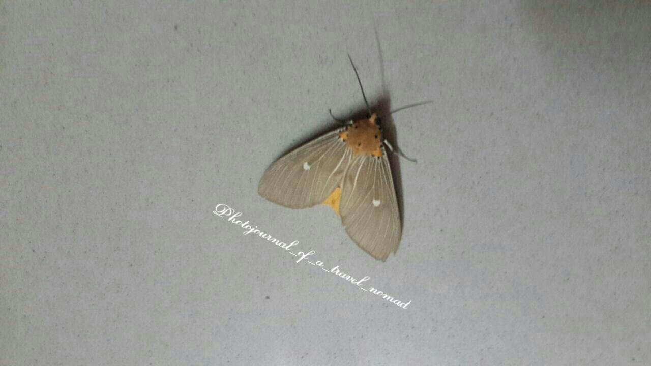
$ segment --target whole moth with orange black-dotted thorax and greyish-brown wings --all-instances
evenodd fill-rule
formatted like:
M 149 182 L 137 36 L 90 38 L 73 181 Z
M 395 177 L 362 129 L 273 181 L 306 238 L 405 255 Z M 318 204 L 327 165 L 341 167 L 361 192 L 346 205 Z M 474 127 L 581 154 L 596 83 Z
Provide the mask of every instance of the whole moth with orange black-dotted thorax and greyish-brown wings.
M 258 193 L 288 208 L 330 206 L 359 247 L 375 259 L 387 260 L 400 244 L 402 223 L 383 138 L 381 121 L 371 113 L 350 55 L 368 115 L 342 121 L 342 126 L 296 148 L 264 172 Z M 429 103 L 421 102 L 398 108 Z M 399 150 L 396 150 L 399 153 Z

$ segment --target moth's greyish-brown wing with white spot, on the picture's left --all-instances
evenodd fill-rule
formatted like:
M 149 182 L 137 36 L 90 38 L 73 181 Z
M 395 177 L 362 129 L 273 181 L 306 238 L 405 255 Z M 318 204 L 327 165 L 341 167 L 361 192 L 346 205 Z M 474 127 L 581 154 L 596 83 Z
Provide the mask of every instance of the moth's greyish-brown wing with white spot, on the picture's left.
M 260 180 L 258 193 L 290 208 L 323 203 L 340 184 L 352 154 L 339 138 L 340 132 L 317 137 L 271 164 Z

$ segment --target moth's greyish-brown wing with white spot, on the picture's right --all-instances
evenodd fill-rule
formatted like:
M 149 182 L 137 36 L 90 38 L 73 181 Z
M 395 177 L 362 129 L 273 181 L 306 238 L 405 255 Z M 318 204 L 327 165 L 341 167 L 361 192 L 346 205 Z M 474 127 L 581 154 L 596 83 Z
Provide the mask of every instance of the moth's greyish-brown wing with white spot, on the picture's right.
M 400 211 L 386 152 L 355 156 L 342 184 L 341 221 L 352 240 L 375 259 L 387 260 L 400 244 Z

